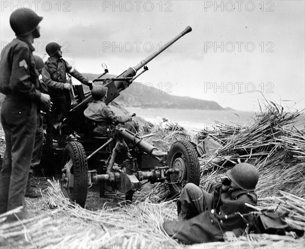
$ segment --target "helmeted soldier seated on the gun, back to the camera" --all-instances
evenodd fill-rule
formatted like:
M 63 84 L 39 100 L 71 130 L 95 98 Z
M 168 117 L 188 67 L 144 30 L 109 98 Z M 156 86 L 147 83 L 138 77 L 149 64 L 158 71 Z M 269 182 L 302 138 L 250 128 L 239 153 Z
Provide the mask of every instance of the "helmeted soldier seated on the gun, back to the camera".
M 91 95 L 94 101 L 84 110 L 84 115 L 94 121 L 94 132 L 107 137 L 107 129 L 112 130 L 113 124 L 132 121 L 131 115 L 119 116 L 106 105 L 107 87 L 98 85 L 92 89 Z M 134 116 L 135 114 L 133 114 Z M 135 124 L 125 124 L 124 128 L 136 133 Z

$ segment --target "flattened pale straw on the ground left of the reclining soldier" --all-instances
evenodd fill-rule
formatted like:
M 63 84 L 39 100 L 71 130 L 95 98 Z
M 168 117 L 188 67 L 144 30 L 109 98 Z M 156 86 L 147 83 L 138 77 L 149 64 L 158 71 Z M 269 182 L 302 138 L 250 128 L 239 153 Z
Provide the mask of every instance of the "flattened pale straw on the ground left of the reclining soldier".
M 52 248 L 65 245 L 69 248 L 142 245 L 144 248 L 147 244 L 179 247 L 162 227 L 164 219 L 176 214 L 173 201 L 160 204 L 142 201 L 89 211 L 70 203 L 60 191 L 58 181 L 49 181 L 43 198 L 35 205 L 28 203 L 28 207 L 31 208 L 29 219 L 5 223 L 2 216 L 0 234 L 6 244 Z

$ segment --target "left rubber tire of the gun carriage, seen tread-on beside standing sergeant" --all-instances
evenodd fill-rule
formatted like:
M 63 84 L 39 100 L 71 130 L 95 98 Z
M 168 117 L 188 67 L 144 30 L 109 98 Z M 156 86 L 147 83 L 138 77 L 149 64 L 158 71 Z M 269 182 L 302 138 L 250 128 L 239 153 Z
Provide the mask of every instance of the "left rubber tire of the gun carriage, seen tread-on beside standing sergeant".
M 88 162 L 84 147 L 79 142 L 69 142 L 63 154 L 62 168 L 70 161 L 73 162 L 73 191 L 69 196 L 65 191 L 63 184 L 62 191 L 64 195 L 72 202 L 76 202 L 81 207 L 85 206 L 88 192 Z

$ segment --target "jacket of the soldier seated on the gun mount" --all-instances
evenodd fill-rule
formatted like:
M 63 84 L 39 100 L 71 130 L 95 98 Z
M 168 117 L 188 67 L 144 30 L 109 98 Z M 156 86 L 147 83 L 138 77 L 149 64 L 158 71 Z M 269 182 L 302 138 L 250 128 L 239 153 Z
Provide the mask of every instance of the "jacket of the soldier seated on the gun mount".
M 101 100 L 90 103 L 84 110 L 84 115 L 95 122 L 94 132 L 104 136 L 107 136 L 107 128 L 110 128 L 112 123 L 125 123 L 132 120 L 130 115 L 115 115 L 110 107 Z

